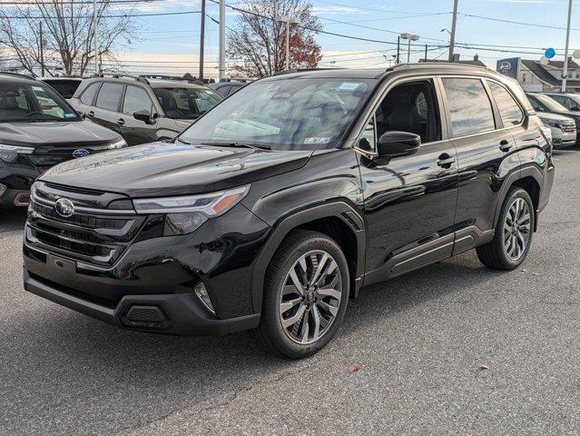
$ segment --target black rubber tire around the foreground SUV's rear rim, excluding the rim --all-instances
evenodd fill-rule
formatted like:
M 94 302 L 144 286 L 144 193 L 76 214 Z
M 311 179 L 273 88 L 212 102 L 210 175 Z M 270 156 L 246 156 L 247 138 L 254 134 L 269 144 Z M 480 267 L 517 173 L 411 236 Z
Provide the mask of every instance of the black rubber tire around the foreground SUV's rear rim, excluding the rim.
M 517 258 L 513 259 L 507 255 L 504 248 L 504 223 L 506 223 L 507 213 L 511 205 L 516 201 L 516 199 L 521 198 L 527 203 L 528 210 L 530 211 L 530 230 L 529 238 L 527 240 L 526 248 L 523 253 Z M 506 195 L 506 200 L 502 204 L 501 213 L 496 224 L 496 234 L 493 241 L 485 245 L 477 247 L 477 257 L 479 261 L 486 265 L 487 267 L 499 270 L 499 271 L 511 271 L 515 270 L 519 265 L 521 265 L 525 260 L 527 253 L 532 245 L 532 239 L 534 236 L 534 226 L 536 224 L 536 213 L 534 209 L 534 203 L 526 190 L 513 186 Z

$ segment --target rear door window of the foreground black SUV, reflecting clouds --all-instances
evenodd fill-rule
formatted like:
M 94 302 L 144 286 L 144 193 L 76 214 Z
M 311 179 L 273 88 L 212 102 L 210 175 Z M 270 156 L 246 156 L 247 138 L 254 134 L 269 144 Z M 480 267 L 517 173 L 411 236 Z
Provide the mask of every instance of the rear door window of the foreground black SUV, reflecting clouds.
M 478 134 L 496 127 L 491 103 L 479 79 L 443 79 L 454 136 Z

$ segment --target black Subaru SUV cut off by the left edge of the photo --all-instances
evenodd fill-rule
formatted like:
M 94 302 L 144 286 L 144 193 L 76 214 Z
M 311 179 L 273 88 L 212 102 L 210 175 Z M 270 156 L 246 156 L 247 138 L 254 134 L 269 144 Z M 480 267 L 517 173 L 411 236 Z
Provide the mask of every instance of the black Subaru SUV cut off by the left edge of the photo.
M 125 145 L 49 85 L 0 73 L 0 208 L 28 205 L 34 179 L 54 164 Z

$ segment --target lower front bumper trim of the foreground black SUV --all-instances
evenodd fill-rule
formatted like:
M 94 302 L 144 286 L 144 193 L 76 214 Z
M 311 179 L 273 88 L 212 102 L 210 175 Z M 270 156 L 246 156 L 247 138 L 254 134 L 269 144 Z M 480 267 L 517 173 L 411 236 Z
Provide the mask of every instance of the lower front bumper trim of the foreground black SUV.
M 252 329 L 260 313 L 219 320 L 212 318 L 191 293 L 125 295 L 111 308 L 78 294 L 59 290 L 53 283 L 24 270 L 25 290 L 74 311 L 130 330 L 177 335 L 220 335 Z

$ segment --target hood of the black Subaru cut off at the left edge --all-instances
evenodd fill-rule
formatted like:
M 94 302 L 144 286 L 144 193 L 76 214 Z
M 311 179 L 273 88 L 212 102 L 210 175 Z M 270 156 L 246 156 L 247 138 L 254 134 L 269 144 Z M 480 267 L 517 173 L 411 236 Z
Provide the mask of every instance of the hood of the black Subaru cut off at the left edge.
M 119 135 L 91 121 L 0 123 L 0 142 L 13 145 L 90 145 L 113 142 Z

